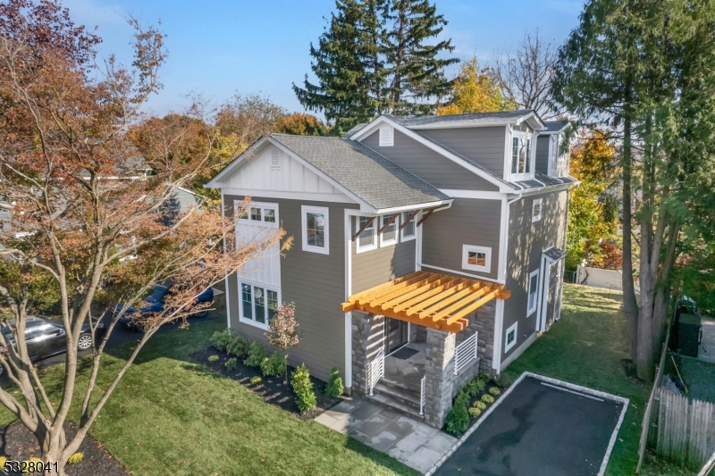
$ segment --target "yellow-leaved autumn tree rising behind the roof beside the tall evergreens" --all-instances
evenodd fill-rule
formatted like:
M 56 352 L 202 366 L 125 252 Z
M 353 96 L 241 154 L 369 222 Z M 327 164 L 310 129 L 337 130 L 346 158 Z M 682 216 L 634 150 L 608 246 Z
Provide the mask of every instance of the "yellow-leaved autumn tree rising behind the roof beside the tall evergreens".
M 462 63 L 454 79 L 448 104 L 437 108 L 437 115 L 490 113 L 516 109 L 516 104 L 501 96 L 499 79 L 490 68 L 480 68 L 476 56 Z

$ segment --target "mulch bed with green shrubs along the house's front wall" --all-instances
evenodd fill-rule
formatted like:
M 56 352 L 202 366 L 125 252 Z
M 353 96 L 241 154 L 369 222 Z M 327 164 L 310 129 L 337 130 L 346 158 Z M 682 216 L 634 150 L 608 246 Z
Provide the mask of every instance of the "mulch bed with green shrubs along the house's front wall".
M 219 359 L 216 362 L 208 362 L 208 357 L 211 355 L 218 355 Z M 315 410 L 301 414 L 298 410 L 298 405 L 296 405 L 296 398 L 293 394 L 293 388 L 290 387 L 290 382 L 288 385 L 283 383 L 283 377 L 264 377 L 261 369 L 257 367 L 248 367 L 243 364 L 242 359 L 238 359 L 238 368 L 235 371 L 227 371 L 224 363 L 229 359 L 230 355 L 225 352 L 217 350 L 215 347 L 207 347 L 203 350 L 199 350 L 189 355 L 192 359 L 203 363 L 206 367 L 220 372 L 223 375 L 231 378 L 232 380 L 238 381 L 241 385 L 248 388 L 254 392 L 258 397 L 263 398 L 263 400 L 269 404 L 278 405 L 286 412 L 293 413 L 300 420 L 312 420 L 316 416 L 324 413 L 326 410 L 332 408 L 332 406 L 338 405 L 343 397 L 331 398 L 325 395 L 325 382 L 323 380 L 315 379 L 311 376 L 310 380 L 313 382 L 313 389 L 315 390 L 315 398 L 317 399 L 317 406 Z M 288 367 L 288 375 L 292 375 L 295 369 L 293 367 Z M 253 377 L 260 377 L 261 382 L 257 384 L 250 383 Z

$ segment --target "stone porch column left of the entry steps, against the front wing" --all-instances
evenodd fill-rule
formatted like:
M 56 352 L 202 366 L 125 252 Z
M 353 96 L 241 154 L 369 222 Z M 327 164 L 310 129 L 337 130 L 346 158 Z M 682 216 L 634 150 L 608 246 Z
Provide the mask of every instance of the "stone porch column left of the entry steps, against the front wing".
M 369 391 L 367 366 L 384 346 L 384 317 L 352 312 L 352 390 L 358 395 Z

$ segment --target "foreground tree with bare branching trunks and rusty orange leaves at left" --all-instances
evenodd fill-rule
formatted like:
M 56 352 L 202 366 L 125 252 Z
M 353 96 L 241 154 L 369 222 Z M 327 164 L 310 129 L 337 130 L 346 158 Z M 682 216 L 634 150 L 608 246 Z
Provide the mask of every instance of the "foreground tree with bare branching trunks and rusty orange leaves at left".
M 57 462 L 60 474 L 156 330 L 164 322 L 187 325 L 198 294 L 283 234 L 236 248 L 236 216 L 224 219 L 217 205 L 164 224 L 157 211 L 211 162 L 218 131 L 195 127 L 206 124 L 200 117 L 142 120 L 147 96 L 161 87 L 164 42 L 158 30 L 130 23 L 133 68 L 110 56 L 100 71 L 94 62 L 100 39 L 72 24 L 59 3 L 0 3 L 0 195 L 13 202 L 12 232 L 0 236 L 0 304 L 12 316 L 0 319 L 13 334 L 0 333 L 0 365 L 8 377 L 0 384 L 0 404 L 35 435 L 43 461 Z M 201 110 L 197 104 L 186 116 Z M 64 380 L 50 391 L 25 341 L 40 280 L 58 289 L 67 347 Z M 148 286 L 167 280 L 175 292 L 164 311 L 130 315 L 146 332 L 127 361 L 118 369 L 102 366 L 118 319 Z M 100 307 L 103 283 L 111 283 L 122 305 Z M 104 312 L 107 331 L 98 340 L 97 317 Z M 82 365 L 86 372 L 79 372 L 85 323 L 96 348 Z M 100 369 L 113 376 L 106 388 L 97 388 Z M 70 411 L 79 415 L 72 438 L 64 431 Z

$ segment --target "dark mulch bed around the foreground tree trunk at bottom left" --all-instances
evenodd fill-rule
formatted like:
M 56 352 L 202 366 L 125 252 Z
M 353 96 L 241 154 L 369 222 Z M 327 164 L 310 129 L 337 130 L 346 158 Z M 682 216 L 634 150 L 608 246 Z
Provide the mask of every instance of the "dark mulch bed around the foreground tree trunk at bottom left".
M 64 424 L 64 431 L 67 439 L 71 439 L 77 433 L 77 427 L 72 423 Z M 95 438 L 89 435 L 84 438 L 78 452 L 83 453 L 81 463 L 67 464 L 65 472 L 68 476 L 87 476 L 88 474 L 101 474 L 102 476 L 130 476 L 122 464 L 114 459 L 114 456 L 100 445 Z M 7 457 L 8 461 L 27 461 L 31 456 L 39 457 L 39 445 L 35 436 L 21 423 L 13 423 L 9 426 L 0 427 L 0 455 Z M 27 472 L 6 473 L 0 470 L 0 474 L 28 474 Z M 55 474 L 55 467 L 52 472 L 42 474 Z

